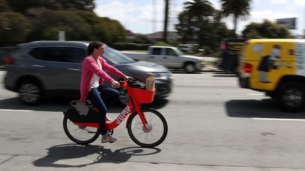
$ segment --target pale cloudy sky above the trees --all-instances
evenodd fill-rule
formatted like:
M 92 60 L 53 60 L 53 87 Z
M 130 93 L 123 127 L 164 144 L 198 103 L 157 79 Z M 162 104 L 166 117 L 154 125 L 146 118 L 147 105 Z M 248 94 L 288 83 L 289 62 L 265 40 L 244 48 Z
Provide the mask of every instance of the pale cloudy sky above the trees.
M 209 0 L 220 9 L 220 0 Z M 174 31 L 177 17 L 184 10 L 184 0 L 169 0 L 168 30 Z M 121 25 L 134 33 L 149 34 L 164 30 L 164 0 L 95 0 L 95 13 L 100 17 L 119 20 Z M 305 0 L 252 0 L 249 18 L 239 20 L 237 33 L 241 34 L 251 22 L 262 23 L 264 19 L 275 22 L 279 18 L 297 18 L 296 30 L 292 34 L 304 34 Z M 232 18 L 224 18 L 229 29 L 233 29 Z

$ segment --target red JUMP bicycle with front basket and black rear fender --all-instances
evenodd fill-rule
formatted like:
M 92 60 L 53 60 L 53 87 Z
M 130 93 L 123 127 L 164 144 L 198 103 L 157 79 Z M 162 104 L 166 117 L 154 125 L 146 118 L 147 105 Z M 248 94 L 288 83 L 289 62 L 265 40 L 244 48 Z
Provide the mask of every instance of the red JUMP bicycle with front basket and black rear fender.
M 106 121 L 106 129 L 111 136 L 114 129 L 128 116 L 126 128 L 129 137 L 143 147 L 160 145 L 167 137 L 167 122 L 164 116 L 153 108 L 141 106 L 151 103 L 155 89 L 148 91 L 136 87 L 137 81 L 129 79 L 121 82 L 121 87 L 126 88 L 129 101 L 114 121 Z M 74 104 L 75 105 L 75 104 Z M 97 121 L 98 110 L 87 103 L 88 113 L 80 115 L 79 110 L 73 107 L 64 111 L 64 132 L 69 139 L 77 144 L 90 144 L 100 136 L 100 126 Z

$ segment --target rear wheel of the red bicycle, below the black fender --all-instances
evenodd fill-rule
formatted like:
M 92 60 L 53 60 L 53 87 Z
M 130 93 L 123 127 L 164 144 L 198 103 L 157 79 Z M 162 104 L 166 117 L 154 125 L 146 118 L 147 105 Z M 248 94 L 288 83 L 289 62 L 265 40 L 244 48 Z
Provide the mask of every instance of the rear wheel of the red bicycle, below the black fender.
M 64 116 L 64 132 L 69 139 L 77 144 L 90 144 L 100 136 L 100 129 L 97 127 L 83 127 L 75 125 L 71 120 Z

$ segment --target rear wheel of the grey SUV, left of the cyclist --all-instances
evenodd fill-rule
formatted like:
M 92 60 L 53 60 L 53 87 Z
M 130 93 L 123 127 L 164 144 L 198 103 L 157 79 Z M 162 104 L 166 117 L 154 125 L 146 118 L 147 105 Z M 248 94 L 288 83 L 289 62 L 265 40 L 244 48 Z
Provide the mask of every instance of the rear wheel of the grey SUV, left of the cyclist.
M 18 87 L 19 98 L 23 103 L 35 105 L 42 100 L 42 89 L 40 85 L 32 80 L 23 81 Z

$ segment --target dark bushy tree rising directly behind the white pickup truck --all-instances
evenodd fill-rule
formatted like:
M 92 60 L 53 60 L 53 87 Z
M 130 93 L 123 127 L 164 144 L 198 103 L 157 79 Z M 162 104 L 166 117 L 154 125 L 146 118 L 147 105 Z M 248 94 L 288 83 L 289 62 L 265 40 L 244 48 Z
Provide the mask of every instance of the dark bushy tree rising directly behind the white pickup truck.
M 205 49 L 205 53 L 214 53 L 220 41 L 232 34 L 227 25 L 221 22 L 221 12 L 215 10 L 208 1 L 189 1 L 185 4 L 185 10 L 179 13 L 179 23 L 176 25 L 182 42 L 196 41 L 198 48 Z

